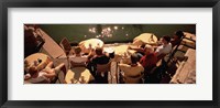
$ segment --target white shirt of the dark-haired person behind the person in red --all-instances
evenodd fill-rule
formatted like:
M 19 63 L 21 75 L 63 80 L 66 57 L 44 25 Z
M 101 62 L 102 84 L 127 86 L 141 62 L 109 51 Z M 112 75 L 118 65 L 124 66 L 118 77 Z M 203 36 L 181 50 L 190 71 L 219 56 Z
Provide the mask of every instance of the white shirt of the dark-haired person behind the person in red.
M 172 51 L 172 44 L 168 43 L 167 45 L 158 46 L 155 53 L 157 53 L 157 55 L 161 55 L 161 54 L 168 54 L 170 51 Z

